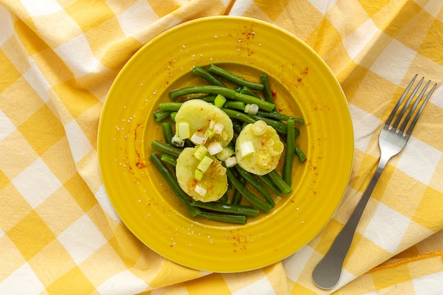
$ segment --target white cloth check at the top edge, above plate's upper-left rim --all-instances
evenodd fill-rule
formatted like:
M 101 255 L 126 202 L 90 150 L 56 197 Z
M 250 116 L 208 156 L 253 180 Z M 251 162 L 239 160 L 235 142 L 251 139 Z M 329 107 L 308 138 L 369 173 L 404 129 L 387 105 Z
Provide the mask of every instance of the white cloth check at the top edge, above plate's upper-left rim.
M 117 21 L 127 37 L 136 35 L 140 30 L 146 29 L 158 19 L 159 16 L 144 0 L 137 1 L 117 16 Z

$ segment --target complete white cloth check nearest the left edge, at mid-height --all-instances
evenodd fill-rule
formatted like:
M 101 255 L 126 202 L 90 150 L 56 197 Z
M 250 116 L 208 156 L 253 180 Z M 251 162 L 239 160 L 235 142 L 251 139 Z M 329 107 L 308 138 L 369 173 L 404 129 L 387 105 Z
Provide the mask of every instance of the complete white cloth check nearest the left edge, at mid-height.
M 18 192 L 35 208 L 62 186 L 42 158 L 38 158 L 28 168 L 12 180 Z

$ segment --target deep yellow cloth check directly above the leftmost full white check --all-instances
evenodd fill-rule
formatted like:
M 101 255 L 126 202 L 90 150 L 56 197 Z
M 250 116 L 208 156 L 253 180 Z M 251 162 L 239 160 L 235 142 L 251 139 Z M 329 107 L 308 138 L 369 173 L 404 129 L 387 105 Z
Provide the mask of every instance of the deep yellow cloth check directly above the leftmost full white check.
M 28 118 L 18 130 L 37 154 L 42 155 L 64 136 L 63 125 L 47 105 Z

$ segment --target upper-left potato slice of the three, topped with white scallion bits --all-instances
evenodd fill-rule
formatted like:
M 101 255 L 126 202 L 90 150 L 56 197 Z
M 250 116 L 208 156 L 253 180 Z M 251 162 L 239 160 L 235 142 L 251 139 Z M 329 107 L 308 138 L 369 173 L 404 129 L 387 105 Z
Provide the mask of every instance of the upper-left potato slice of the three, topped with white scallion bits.
M 204 100 L 185 101 L 176 115 L 176 125 L 180 122 L 188 123 L 191 136 L 197 132 L 200 136 L 207 137 L 205 144 L 219 141 L 222 146 L 227 146 L 234 137 L 234 128 L 229 116 Z

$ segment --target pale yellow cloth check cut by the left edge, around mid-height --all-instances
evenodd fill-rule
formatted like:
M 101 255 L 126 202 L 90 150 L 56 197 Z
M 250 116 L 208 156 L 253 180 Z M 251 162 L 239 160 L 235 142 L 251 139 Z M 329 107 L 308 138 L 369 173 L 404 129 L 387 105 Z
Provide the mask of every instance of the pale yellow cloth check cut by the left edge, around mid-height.
M 20 149 L 17 149 L 18 146 Z M 38 158 L 38 154 L 18 130 L 0 141 L 0 155 L 0 169 L 11 180 Z M 20 161 L 16 161 L 17 158 Z

